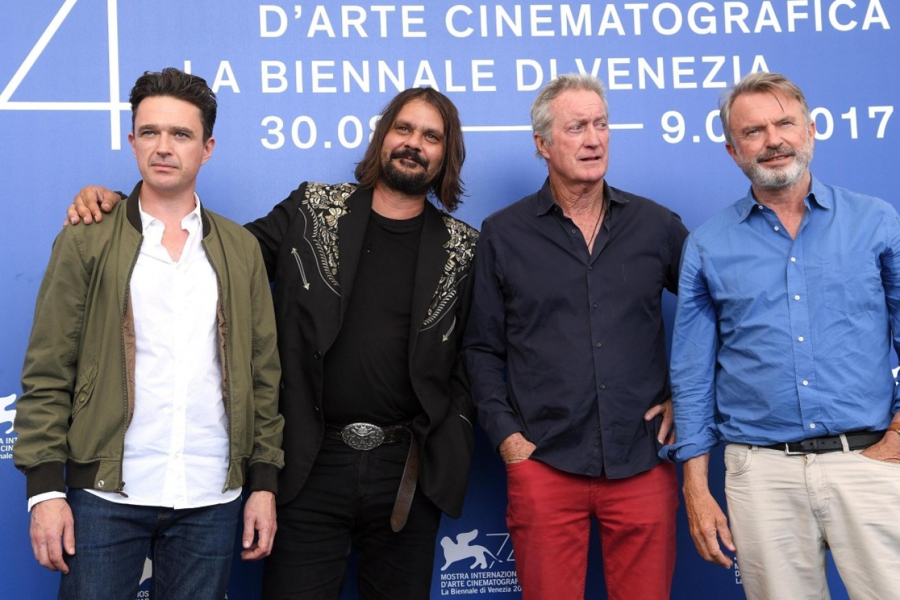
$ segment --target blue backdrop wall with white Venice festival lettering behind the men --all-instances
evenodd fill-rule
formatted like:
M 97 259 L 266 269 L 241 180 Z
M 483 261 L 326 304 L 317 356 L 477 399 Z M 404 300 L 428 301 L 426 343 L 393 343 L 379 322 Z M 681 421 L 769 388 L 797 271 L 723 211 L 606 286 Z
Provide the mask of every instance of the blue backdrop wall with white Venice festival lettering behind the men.
M 898 25 L 897 4 L 885 0 L 0 0 L 0 597 L 55 596 L 58 576 L 31 557 L 24 478 L 11 455 L 14 401 L 63 210 L 85 184 L 128 191 L 137 180 L 126 101 L 144 70 L 182 67 L 214 86 L 217 144 L 198 192 L 238 222 L 265 214 L 303 180 L 352 180 L 384 103 L 406 87 L 437 87 L 464 123 L 469 195 L 458 214 L 476 227 L 545 178 L 528 128 L 536 90 L 556 73 L 594 73 L 609 89 L 608 181 L 695 228 L 746 193 L 716 101 L 752 70 L 785 73 L 806 92 L 816 175 L 897 204 Z M 713 462 L 720 490 L 721 461 Z M 480 437 L 464 515 L 446 519 L 439 536 L 468 534 L 475 557 L 453 560 L 439 546 L 433 597 L 519 597 L 504 488 L 500 460 Z M 673 597 L 743 597 L 739 570 L 700 560 L 680 518 Z M 256 599 L 258 565 L 235 568 L 229 597 Z M 355 596 L 352 582 L 345 596 Z M 589 596 L 606 597 L 599 569 Z M 835 596 L 846 598 L 840 588 Z

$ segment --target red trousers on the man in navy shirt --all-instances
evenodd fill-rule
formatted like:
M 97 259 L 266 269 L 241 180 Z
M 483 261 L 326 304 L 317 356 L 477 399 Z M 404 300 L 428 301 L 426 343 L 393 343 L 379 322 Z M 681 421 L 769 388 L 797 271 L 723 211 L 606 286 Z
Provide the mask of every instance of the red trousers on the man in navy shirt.
M 523 600 L 581 600 L 591 517 L 609 600 L 667 600 L 675 570 L 678 477 L 668 462 L 627 479 L 507 465 L 507 526 Z

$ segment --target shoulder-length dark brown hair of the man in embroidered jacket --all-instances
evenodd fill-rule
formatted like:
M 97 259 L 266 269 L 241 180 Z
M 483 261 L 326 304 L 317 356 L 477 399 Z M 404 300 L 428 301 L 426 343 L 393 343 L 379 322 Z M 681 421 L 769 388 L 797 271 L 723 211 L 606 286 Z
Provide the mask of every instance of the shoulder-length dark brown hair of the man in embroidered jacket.
M 427 102 L 441 113 L 444 120 L 444 160 L 437 172 L 431 192 L 448 212 L 453 212 L 463 203 L 463 180 L 460 172 L 463 170 L 465 160 L 465 144 L 463 141 L 463 126 L 459 121 L 459 112 L 454 103 L 446 95 L 441 94 L 430 87 L 411 87 L 393 97 L 393 100 L 384 107 L 382 118 L 375 125 L 372 133 L 372 141 L 365 150 L 363 159 L 356 165 L 356 181 L 363 187 L 374 187 L 383 177 L 382 172 L 382 146 L 384 138 L 391 130 L 393 122 L 397 119 L 402 108 L 413 100 Z

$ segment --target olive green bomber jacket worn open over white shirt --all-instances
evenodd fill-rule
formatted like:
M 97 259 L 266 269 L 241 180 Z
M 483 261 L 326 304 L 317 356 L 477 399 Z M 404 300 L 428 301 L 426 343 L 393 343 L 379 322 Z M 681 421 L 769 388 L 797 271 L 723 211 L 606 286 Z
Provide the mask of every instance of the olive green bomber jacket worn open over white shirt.
M 28 497 L 65 491 L 66 485 L 127 493 L 121 459 L 134 411 L 129 282 L 143 239 L 139 190 L 140 184 L 102 224 L 64 228 L 54 243 L 16 405 L 14 462 L 26 475 Z M 202 247 L 219 283 L 229 428 L 225 489 L 274 492 L 284 466 L 284 419 L 278 414 L 281 370 L 266 266 L 255 237 L 201 212 Z

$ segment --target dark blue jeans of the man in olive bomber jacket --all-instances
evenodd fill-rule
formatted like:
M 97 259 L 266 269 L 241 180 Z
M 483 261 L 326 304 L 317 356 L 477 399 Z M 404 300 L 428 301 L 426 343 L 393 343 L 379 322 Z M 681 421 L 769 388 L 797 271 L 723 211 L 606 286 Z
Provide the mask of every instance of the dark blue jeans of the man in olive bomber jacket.
M 240 498 L 201 508 L 110 502 L 71 489 L 76 553 L 59 600 L 134 600 L 144 561 L 153 561 L 153 600 L 221 600 L 228 588 Z

